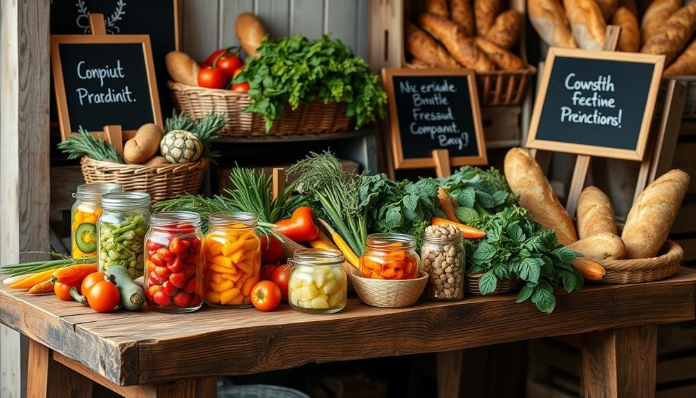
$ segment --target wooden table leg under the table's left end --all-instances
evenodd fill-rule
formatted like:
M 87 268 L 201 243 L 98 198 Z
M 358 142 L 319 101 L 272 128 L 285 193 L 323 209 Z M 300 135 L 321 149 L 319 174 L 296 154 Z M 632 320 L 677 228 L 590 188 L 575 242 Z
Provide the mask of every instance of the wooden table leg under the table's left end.
M 31 398 L 91 398 L 92 381 L 53 360 L 52 352 L 29 340 L 26 396 Z

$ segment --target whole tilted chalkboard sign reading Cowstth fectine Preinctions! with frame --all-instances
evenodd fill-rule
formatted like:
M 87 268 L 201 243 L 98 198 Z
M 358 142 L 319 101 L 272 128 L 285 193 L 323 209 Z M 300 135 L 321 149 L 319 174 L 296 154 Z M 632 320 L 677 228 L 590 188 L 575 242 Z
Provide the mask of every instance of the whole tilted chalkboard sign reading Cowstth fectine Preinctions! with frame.
M 527 146 L 642 160 L 664 56 L 551 47 Z

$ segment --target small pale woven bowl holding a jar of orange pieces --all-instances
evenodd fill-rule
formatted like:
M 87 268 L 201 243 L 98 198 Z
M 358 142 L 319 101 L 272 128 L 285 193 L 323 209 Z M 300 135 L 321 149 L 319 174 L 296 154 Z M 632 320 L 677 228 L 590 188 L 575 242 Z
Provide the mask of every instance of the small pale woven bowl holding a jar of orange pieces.
M 416 279 L 370 279 L 352 273 L 351 278 L 355 291 L 363 303 L 382 308 L 413 305 L 418 301 L 428 282 L 428 274 L 422 271 L 420 278 Z

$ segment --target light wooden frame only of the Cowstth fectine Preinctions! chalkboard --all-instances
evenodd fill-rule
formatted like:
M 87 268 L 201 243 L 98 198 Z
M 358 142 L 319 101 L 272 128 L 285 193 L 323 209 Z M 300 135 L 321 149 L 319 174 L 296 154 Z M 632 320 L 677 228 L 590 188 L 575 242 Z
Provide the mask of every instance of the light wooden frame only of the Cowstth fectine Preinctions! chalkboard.
M 541 119 L 541 111 L 544 109 L 544 102 L 546 102 L 548 82 L 549 79 L 551 79 L 551 71 L 553 70 L 553 63 L 556 56 L 562 56 L 564 58 L 596 59 L 600 61 L 627 61 L 631 63 L 648 63 L 654 65 L 652 80 L 648 90 L 647 103 L 645 104 L 645 111 L 643 113 L 640 133 L 638 135 L 638 143 L 635 150 L 548 141 L 536 138 L 537 130 L 539 129 L 539 120 Z M 651 54 L 635 54 L 616 51 L 589 51 L 583 49 L 563 49 L 558 47 L 550 47 L 548 49 L 545 64 L 544 72 L 541 74 L 541 83 L 539 84 L 537 100 L 535 101 L 534 110 L 532 111 L 532 118 L 530 120 L 529 134 L 526 144 L 527 148 L 642 161 L 648 141 L 652 116 L 655 111 L 655 102 L 657 100 L 658 89 L 662 79 L 665 57 Z

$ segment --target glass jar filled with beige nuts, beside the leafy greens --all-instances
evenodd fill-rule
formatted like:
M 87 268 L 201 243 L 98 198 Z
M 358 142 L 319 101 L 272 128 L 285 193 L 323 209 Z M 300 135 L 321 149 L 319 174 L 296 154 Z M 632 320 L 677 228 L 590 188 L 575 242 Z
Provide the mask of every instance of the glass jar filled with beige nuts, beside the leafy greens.
M 466 255 L 461 232 L 454 226 L 431 225 L 420 248 L 423 271 L 428 273 L 425 297 L 456 301 L 464 298 Z

